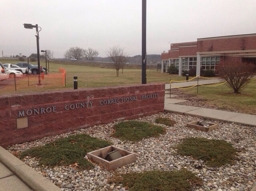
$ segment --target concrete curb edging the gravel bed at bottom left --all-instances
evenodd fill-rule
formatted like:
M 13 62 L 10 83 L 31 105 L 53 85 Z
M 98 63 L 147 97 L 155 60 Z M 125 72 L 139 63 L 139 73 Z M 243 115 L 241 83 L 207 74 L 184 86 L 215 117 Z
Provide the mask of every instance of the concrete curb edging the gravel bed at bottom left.
M 62 191 L 58 186 L 13 156 L 2 146 L 0 146 L 0 162 L 34 191 Z

